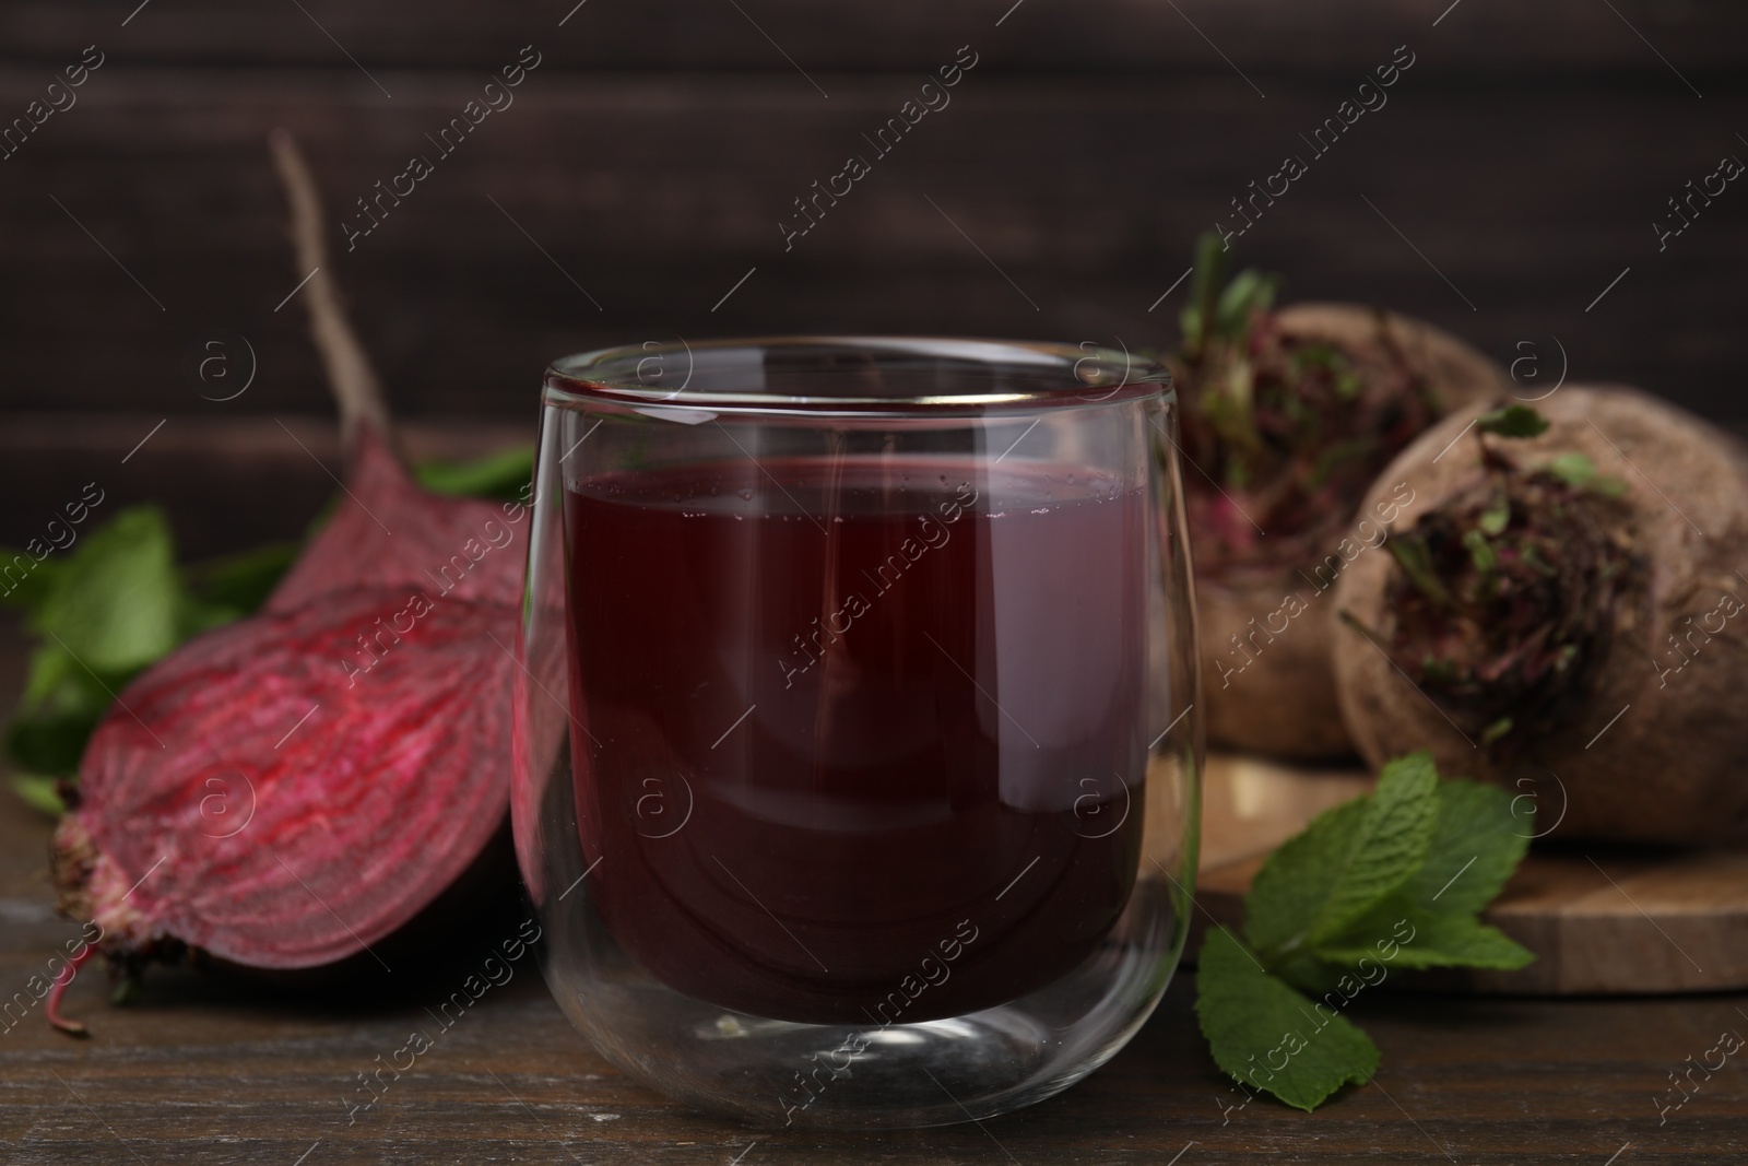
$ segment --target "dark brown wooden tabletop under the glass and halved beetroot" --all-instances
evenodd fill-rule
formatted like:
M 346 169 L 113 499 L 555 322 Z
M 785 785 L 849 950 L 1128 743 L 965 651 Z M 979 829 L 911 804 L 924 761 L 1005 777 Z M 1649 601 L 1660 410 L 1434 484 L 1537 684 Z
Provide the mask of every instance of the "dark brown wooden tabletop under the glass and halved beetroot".
M 0 626 L 0 701 L 21 671 Z M 77 933 L 51 909 L 49 822 L 0 795 L 0 996 Z M 514 928 L 517 920 L 505 918 Z M 458 937 L 456 960 L 489 935 Z M 1215 1070 L 1180 975 L 1154 1019 L 1066 1094 L 975 1124 L 900 1133 L 757 1131 L 682 1108 L 596 1056 L 531 967 L 489 991 L 376 1107 L 353 1121 L 357 1075 L 451 991 L 442 970 L 371 998 L 154 968 L 143 996 L 107 1003 L 93 965 L 68 993 L 87 1040 L 40 1009 L 0 1030 L 0 1143 L 40 1163 L 1738 1163 L 1748 1157 L 1748 1066 L 1732 1059 L 1659 1119 L 1671 1072 L 1748 996 L 1502 1000 L 1379 991 L 1355 1005 L 1384 1056 L 1377 1080 L 1313 1115 L 1245 1108 Z M 26 995 L 28 998 L 28 995 Z M 1692 1061 L 1689 1061 L 1692 1058 Z M 1176 1156 L 1176 1157 L 1175 1157 Z

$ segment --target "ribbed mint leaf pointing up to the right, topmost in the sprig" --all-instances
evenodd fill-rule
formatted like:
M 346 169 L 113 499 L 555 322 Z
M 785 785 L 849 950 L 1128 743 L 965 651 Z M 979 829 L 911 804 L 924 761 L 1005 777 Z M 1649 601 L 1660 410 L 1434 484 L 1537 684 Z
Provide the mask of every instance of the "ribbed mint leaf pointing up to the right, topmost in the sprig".
M 1426 860 L 1439 808 L 1430 753 L 1400 757 L 1370 795 L 1328 809 L 1269 855 L 1245 897 L 1264 963 L 1339 935 Z

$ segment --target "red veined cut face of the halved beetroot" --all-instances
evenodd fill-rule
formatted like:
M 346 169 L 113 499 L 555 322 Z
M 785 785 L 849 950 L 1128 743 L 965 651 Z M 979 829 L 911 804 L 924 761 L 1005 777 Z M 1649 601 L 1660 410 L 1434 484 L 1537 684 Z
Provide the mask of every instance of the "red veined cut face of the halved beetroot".
M 386 650 L 348 673 L 360 633 Z M 514 661 L 493 636 L 514 635 L 514 608 L 367 587 L 192 642 L 93 738 L 58 836 L 94 848 L 89 916 L 259 968 L 390 935 L 503 818 Z

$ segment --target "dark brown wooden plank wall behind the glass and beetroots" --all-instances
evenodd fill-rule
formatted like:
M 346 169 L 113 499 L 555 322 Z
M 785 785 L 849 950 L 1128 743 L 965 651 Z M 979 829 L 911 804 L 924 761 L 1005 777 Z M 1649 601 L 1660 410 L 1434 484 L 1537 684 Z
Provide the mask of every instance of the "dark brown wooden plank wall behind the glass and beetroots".
M 1748 157 L 1748 10 L 1722 0 L 136 3 L 0 10 L 0 119 L 86 45 L 105 54 L 0 161 L 14 416 L 325 416 L 299 306 L 276 311 L 302 273 L 266 131 L 294 128 L 330 208 L 351 206 L 435 156 L 425 135 L 528 44 L 542 63 L 516 103 L 334 257 L 407 416 L 526 425 L 545 360 L 673 336 L 1164 344 L 1196 233 L 1288 152 L 1309 173 L 1238 252 L 1290 297 L 1538 353 L 1543 383 L 1557 339 L 1573 378 L 1748 414 L 1748 191 L 1664 252 L 1652 229 L 1689 178 Z M 871 152 L 862 135 L 960 45 L 979 63 L 951 105 L 785 252 L 792 199 Z M 1299 135 L 1397 45 L 1414 66 L 1388 105 L 1311 157 Z M 229 402 L 189 371 L 215 329 L 255 355 Z M 9 516 L 56 503 L 0 484 Z

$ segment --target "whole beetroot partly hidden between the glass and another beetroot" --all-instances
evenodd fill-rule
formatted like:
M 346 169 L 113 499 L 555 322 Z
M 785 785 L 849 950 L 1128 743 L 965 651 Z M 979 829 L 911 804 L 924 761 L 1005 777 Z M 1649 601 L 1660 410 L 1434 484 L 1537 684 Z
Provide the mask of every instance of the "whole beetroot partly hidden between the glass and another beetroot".
M 1185 344 L 1185 495 L 1196 552 L 1208 739 L 1294 759 L 1349 752 L 1323 596 L 1374 545 L 1397 500 L 1360 505 L 1377 472 L 1447 411 L 1510 385 L 1430 323 L 1356 304 L 1269 309 L 1241 273 L 1218 292 L 1204 245 Z M 1218 292 L 1218 295 L 1217 295 Z

